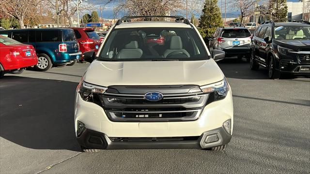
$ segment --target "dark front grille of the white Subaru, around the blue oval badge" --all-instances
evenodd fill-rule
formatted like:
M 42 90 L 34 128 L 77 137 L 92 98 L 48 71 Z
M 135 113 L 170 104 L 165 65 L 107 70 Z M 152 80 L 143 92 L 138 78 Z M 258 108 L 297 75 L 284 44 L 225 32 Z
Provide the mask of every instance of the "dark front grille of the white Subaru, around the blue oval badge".
M 190 86 L 192 88 L 192 86 Z M 115 87 L 117 88 L 117 87 Z M 124 92 L 125 87 L 120 87 Z M 139 87 L 129 90 L 137 90 Z M 143 90 L 146 87 L 143 87 Z M 176 93 L 177 88 L 166 87 L 164 92 L 160 89 L 163 87 L 148 87 L 149 91 L 158 91 L 163 94 L 163 99 L 152 102 L 144 99 L 143 93 L 115 93 L 107 92 L 103 95 L 97 95 L 97 104 L 100 104 L 111 121 L 121 122 L 140 122 L 140 121 L 191 121 L 196 120 L 202 113 L 203 107 L 206 105 L 209 94 L 202 92 L 186 92 Z M 182 86 L 182 91 L 184 90 Z M 190 91 L 190 88 L 188 89 Z M 145 91 L 143 91 L 145 92 Z

